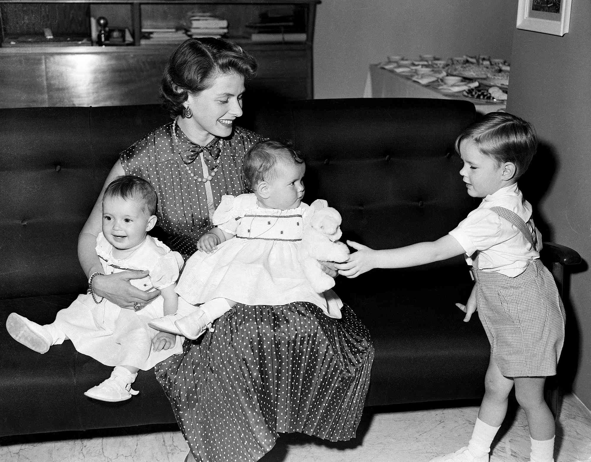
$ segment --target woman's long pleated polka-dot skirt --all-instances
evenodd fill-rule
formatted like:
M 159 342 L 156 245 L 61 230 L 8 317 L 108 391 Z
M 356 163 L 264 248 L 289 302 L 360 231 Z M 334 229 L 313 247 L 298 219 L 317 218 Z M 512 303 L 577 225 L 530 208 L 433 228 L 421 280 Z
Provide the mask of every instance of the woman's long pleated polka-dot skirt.
M 374 348 L 350 307 L 236 305 L 156 375 L 197 461 L 259 460 L 278 434 L 355 437 Z

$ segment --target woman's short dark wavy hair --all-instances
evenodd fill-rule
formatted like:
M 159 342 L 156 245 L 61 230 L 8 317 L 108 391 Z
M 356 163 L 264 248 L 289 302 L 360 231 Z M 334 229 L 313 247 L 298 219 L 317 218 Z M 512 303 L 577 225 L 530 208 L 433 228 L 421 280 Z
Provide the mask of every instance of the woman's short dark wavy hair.
M 236 72 L 248 82 L 256 76 L 254 57 L 222 38 L 189 38 L 168 57 L 160 82 L 160 98 L 171 118 L 184 117 L 189 93 L 209 88 L 217 74 Z

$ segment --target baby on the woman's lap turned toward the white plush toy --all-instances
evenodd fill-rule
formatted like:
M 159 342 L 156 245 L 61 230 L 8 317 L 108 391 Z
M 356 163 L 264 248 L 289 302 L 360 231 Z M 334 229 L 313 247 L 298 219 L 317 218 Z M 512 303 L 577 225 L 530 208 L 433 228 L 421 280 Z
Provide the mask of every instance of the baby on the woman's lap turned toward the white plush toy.
M 304 224 L 326 201 L 304 204 L 306 165 L 300 154 L 277 141 L 252 147 L 243 161 L 251 194 L 223 196 L 213 214 L 216 225 L 199 239 L 177 284 L 181 299 L 200 307 L 153 320 L 151 327 L 189 339 L 237 303 L 285 305 L 312 302 L 329 317 L 340 318 L 335 292 L 314 291 L 297 258 Z

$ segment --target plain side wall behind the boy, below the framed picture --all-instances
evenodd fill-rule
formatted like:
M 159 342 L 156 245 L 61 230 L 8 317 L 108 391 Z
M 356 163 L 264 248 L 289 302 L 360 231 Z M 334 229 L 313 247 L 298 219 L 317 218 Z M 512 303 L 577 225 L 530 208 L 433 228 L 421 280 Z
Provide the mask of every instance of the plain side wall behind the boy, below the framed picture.
M 545 238 L 586 261 L 570 281 L 561 376 L 591 408 L 591 2 L 573 0 L 563 37 L 515 29 L 508 112 L 534 123 L 541 149 L 527 187 Z M 533 164 L 532 164 L 533 165 Z M 527 191 L 525 191 L 527 193 Z M 573 373 L 576 371 L 576 373 Z

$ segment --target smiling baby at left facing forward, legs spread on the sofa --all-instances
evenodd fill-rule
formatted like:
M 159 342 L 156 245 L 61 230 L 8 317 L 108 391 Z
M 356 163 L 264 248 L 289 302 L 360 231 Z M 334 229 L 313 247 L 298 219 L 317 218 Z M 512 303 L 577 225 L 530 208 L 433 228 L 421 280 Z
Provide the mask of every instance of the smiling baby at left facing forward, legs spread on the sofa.
M 138 393 L 131 384 L 139 369 L 151 369 L 182 352 L 181 337 L 156 341 L 158 331 L 148 327 L 152 318 L 177 312 L 174 288 L 183 265 L 178 252 L 147 235 L 157 220 L 156 204 L 156 192 L 148 181 L 131 175 L 112 181 L 103 196 L 102 233 L 96 240 L 104 273 L 91 275 L 89 292 L 60 310 L 51 324 L 41 326 L 17 313 L 8 316 L 6 325 L 12 338 L 38 353 L 69 339 L 78 352 L 115 366 L 110 378 L 85 392 L 89 398 L 110 402 L 129 399 Z M 145 270 L 149 276 L 129 282 L 144 291 L 160 289 L 161 294 L 141 311 L 122 309 L 92 292 L 96 275 Z

